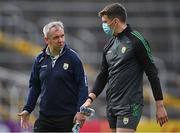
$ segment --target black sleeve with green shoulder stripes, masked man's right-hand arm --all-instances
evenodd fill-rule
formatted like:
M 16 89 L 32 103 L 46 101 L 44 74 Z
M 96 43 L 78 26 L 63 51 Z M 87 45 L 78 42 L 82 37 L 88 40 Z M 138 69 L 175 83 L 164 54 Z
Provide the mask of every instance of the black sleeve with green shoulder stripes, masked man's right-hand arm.
M 138 33 L 136 33 L 135 36 L 137 38 L 135 43 L 136 58 L 148 77 L 155 100 L 162 100 L 163 94 L 158 77 L 158 71 L 154 64 L 149 43 Z

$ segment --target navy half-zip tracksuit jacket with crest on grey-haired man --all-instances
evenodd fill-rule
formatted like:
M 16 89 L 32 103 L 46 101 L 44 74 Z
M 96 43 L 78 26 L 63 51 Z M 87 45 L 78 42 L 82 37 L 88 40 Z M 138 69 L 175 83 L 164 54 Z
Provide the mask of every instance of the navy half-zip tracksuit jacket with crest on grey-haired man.
M 72 115 L 88 95 L 83 65 L 72 49 L 64 46 L 54 67 L 45 49 L 33 64 L 29 96 L 23 110 L 31 113 L 40 96 L 40 113 L 45 116 Z

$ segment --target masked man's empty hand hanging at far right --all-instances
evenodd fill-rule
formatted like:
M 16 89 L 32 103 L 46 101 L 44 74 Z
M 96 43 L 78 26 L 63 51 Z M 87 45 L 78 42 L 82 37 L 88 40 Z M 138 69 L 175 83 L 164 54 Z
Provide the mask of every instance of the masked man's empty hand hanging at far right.
M 160 126 L 163 126 L 163 124 L 168 122 L 167 112 L 162 100 L 156 101 L 156 120 Z

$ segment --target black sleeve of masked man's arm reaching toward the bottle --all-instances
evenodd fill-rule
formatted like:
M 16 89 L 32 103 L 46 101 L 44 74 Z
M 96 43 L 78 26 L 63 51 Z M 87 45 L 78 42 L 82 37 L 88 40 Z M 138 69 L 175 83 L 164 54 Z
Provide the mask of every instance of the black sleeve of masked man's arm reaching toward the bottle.
M 100 72 L 96 78 L 95 84 L 92 89 L 92 93 L 98 97 L 100 93 L 103 91 L 108 79 L 108 65 L 105 58 L 105 52 L 103 53 L 102 63 L 100 67 Z

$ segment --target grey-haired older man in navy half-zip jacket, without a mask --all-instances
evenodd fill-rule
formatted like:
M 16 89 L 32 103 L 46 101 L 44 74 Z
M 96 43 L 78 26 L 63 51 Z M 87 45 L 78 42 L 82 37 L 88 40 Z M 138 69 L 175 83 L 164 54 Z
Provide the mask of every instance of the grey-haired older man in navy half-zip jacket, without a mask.
M 70 132 L 73 120 L 83 124 L 79 107 L 88 88 L 83 65 L 76 52 L 65 43 L 63 23 L 50 22 L 43 28 L 46 48 L 36 57 L 29 96 L 21 117 L 21 127 L 29 126 L 30 113 L 40 96 L 40 114 L 34 132 Z

